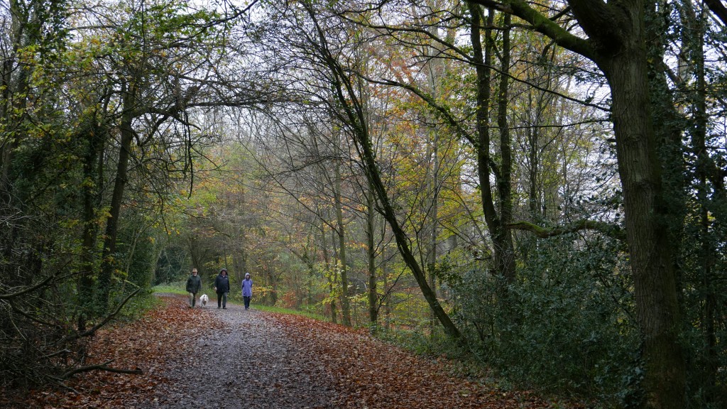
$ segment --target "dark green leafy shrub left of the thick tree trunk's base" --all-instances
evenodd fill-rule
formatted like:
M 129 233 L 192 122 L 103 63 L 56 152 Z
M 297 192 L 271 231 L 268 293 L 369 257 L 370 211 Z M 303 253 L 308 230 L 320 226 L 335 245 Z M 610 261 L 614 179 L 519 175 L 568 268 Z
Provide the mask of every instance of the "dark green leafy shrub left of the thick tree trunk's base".
M 623 402 L 638 332 L 618 245 L 539 241 L 506 293 L 490 271 L 462 271 L 451 292 L 477 354 L 523 386 Z

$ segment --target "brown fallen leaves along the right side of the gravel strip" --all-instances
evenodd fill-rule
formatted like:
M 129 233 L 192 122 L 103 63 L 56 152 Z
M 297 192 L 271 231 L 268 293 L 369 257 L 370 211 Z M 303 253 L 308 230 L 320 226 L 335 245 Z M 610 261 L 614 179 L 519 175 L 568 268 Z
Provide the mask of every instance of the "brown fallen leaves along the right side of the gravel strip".
M 450 376 L 446 360 L 427 360 L 362 330 L 314 319 L 270 314 L 302 352 L 314 354 L 336 378 L 341 408 L 562 408 L 532 392 L 502 392 Z M 571 405 L 571 408 L 579 408 Z

